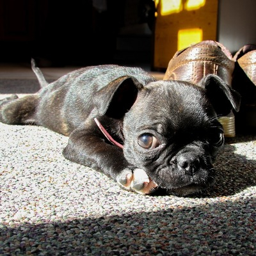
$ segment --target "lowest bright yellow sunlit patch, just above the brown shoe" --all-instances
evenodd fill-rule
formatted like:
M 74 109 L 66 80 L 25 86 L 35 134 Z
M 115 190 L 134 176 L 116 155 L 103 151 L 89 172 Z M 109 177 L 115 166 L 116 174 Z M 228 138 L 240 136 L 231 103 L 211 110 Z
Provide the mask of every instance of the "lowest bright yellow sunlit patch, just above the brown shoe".
M 201 42 L 203 31 L 200 28 L 180 29 L 178 32 L 178 51 Z

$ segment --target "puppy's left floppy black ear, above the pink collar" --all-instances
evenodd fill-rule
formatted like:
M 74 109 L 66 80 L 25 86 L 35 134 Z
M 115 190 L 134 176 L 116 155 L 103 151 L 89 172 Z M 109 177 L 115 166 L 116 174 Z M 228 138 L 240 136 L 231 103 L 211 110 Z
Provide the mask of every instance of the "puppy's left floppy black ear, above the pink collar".
M 97 92 L 93 102 L 98 115 L 112 118 L 122 118 L 134 104 L 138 91 L 143 85 L 131 76 L 118 77 Z

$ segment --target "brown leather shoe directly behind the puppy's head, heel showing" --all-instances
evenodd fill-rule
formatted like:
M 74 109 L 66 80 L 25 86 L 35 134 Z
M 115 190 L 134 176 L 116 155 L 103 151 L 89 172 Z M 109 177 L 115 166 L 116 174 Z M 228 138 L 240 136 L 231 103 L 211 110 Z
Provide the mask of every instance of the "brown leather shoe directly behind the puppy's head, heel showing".
M 231 86 L 234 67 L 232 54 L 224 45 L 206 40 L 176 52 L 168 64 L 164 80 L 182 80 L 198 84 L 207 74 L 216 74 Z M 219 121 L 226 137 L 236 136 L 233 112 L 228 116 L 221 116 Z

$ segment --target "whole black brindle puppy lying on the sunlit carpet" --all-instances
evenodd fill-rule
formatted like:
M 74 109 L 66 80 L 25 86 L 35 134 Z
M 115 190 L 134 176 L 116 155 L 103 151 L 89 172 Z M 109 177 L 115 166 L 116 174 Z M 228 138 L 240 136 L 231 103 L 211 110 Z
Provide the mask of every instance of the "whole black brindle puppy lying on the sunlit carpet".
M 141 68 L 102 65 L 70 72 L 42 89 L 0 102 L 5 124 L 42 125 L 69 136 L 67 159 L 100 170 L 129 191 L 188 195 L 214 180 L 223 145 L 217 120 L 239 95 L 214 75 L 200 84 L 155 81 Z M 111 134 L 111 135 L 109 135 Z

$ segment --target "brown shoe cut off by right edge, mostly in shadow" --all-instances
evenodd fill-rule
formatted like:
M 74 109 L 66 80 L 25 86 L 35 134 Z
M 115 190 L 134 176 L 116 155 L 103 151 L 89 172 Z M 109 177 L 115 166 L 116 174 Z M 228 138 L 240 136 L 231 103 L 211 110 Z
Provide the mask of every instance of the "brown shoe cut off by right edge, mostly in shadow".
M 244 45 L 234 55 L 236 61 L 233 88 L 241 94 L 241 108 L 236 113 L 239 132 L 256 131 L 256 45 Z

